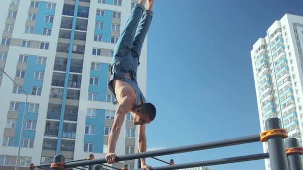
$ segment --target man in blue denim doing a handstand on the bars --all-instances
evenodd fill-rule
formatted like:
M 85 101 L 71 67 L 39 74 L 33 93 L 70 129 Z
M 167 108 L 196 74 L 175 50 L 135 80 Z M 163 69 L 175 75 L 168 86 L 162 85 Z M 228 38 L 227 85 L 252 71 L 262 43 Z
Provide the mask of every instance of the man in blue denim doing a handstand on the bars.
M 147 9 L 145 3 L 147 1 Z M 115 163 L 116 143 L 126 113 L 130 111 L 134 124 L 139 125 L 139 152 L 146 152 L 145 126 L 155 119 L 156 108 L 147 103 L 137 83 L 137 69 L 140 64 L 141 48 L 153 18 L 154 0 L 139 0 L 128 16 L 126 26 L 118 39 L 111 61 L 111 77 L 108 82 L 110 91 L 115 94 L 118 108 L 108 138 L 107 163 Z M 115 103 L 114 102 L 114 103 Z M 141 168 L 149 170 L 145 158 L 141 159 Z

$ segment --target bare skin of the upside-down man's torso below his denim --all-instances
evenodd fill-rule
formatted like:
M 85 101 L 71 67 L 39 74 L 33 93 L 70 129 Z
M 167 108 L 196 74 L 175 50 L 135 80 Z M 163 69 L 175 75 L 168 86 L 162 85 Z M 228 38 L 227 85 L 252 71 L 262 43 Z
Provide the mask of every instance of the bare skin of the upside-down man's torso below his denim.
M 116 93 L 116 99 L 119 103 L 122 103 L 123 100 L 127 100 L 127 102 L 130 102 L 132 105 L 132 109 L 130 112 L 136 112 L 134 105 L 136 102 L 136 91 L 134 88 L 132 88 L 127 82 L 114 79 L 112 81 L 112 87 L 115 90 Z M 142 100 L 139 100 L 138 104 L 141 104 Z

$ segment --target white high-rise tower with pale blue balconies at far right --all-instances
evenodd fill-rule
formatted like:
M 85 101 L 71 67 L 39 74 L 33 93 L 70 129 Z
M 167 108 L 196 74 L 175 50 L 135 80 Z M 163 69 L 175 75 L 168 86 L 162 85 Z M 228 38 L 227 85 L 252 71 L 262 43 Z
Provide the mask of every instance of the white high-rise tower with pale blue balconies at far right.
M 251 51 L 261 131 L 271 117 L 281 119 L 289 137 L 302 143 L 303 17 L 285 14 Z M 267 151 L 266 142 L 263 151 Z M 270 169 L 266 159 L 266 169 Z

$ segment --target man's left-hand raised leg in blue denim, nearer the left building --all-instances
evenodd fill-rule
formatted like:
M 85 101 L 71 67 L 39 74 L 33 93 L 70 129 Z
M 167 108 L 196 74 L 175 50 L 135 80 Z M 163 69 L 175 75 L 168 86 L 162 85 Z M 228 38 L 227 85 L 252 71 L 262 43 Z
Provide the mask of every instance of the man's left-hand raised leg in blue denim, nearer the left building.
M 125 28 L 117 41 L 115 53 L 113 55 L 123 55 L 127 52 L 130 53 L 136 29 L 145 10 L 145 2 L 146 0 L 139 0 L 135 8 L 132 9 L 130 15 L 127 18 Z

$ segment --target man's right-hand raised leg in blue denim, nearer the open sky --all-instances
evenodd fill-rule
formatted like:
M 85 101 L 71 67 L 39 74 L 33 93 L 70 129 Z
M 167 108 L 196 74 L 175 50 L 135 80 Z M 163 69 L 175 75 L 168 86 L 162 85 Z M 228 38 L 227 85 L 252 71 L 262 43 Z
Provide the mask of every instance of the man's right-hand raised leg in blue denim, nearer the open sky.
M 131 48 L 132 57 L 139 58 L 145 36 L 148 32 L 149 26 L 151 24 L 151 20 L 153 19 L 153 11 L 151 10 L 153 9 L 154 0 L 147 0 L 147 3 L 148 3 L 147 8 L 140 20 L 140 24 L 136 31 L 135 39 L 132 44 L 132 48 Z

